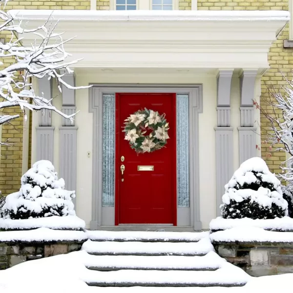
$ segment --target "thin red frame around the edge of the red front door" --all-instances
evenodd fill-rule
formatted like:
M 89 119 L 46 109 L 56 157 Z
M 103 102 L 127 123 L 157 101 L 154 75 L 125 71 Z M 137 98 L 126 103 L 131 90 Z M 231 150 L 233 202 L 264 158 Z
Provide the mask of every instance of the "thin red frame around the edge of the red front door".
M 154 94 L 156 92 L 133 92 L 133 93 L 138 93 L 138 94 Z M 116 92 L 115 93 L 115 129 L 118 129 L 119 126 L 119 94 L 125 94 L 125 92 Z M 127 93 L 126 93 L 127 94 Z M 172 93 L 162 93 L 162 94 L 172 94 L 172 96 L 170 96 L 172 98 L 172 102 L 175 102 L 175 111 L 173 111 L 173 119 L 175 120 L 175 127 L 176 127 L 176 93 L 172 92 Z M 117 106 L 118 105 L 118 106 Z M 174 106 L 174 105 L 173 105 Z M 172 218 L 173 218 L 173 226 L 176 227 L 177 226 L 177 133 L 176 133 L 176 128 L 175 128 L 175 139 L 173 139 L 173 147 L 175 150 L 175 156 L 173 156 L 171 158 L 172 161 L 172 166 L 174 167 L 173 173 L 172 173 L 172 180 L 173 180 L 173 192 L 171 194 L 172 196 L 172 208 L 171 208 L 171 212 L 172 212 Z M 119 224 L 119 200 L 120 200 L 120 190 L 119 190 L 119 180 L 117 180 L 118 174 L 120 173 L 120 153 L 117 152 L 116 150 L 119 149 L 119 132 L 116 131 L 115 133 L 115 197 L 114 197 L 114 207 L 115 207 L 115 226 L 118 225 L 125 225 L 125 224 Z M 189 194 L 190 196 L 190 194 Z M 136 224 L 138 225 L 138 224 Z M 153 225 L 153 224 L 152 224 Z

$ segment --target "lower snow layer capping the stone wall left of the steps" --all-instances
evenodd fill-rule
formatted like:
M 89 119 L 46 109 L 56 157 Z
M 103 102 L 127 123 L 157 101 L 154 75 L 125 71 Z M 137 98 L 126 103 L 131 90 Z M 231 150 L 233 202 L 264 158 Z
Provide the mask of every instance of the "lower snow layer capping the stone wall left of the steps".
M 39 228 L 25 231 L 2 231 L 0 242 L 46 242 L 46 241 L 84 241 L 87 239 L 84 231 L 51 230 Z

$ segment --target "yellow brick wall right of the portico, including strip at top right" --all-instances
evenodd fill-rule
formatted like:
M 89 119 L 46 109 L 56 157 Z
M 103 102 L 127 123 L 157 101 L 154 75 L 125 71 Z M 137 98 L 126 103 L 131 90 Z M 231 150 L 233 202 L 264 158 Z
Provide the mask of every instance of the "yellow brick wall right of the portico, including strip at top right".
M 198 10 L 288 10 L 289 0 L 197 0 Z M 271 68 L 265 73 L 261 81 L 261 107 L 272 114 L 272 109 L 267 105 L 269 101 L 268 86 L 276 89 L 280 85 L 286 84 L 285 77 L 292 79 L 293 70 L 293 49 L 284 49 L 283 40 L 289 39 L 289 26 L 287 25 L 283 32 L 278 36 L 277 41 L 272 44 L 269 52 L 269 63 Z M 267 130 L 270 129 L 270 123 L 261 117 L 262 158 L 267 162 L 270 170 L 275 173 L 281 172 L 280 164 L 285 161 L 283 152 L 275 152 L 265 142 Z

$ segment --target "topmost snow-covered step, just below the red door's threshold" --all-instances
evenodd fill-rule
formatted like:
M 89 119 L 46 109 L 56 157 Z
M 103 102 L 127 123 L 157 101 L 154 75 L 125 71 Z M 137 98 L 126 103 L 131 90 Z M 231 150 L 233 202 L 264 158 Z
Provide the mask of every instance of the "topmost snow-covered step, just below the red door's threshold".
M 164 232 L 164 231 L 101 231 L 87 230 L 93 241 L 141 241 L 141 242 L 197 242 L 209 235 L 206 232 Z

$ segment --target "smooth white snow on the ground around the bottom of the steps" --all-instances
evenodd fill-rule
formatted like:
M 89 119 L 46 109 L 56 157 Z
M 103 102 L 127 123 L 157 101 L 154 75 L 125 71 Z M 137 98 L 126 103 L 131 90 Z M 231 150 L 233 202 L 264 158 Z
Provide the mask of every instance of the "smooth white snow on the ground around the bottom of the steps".
M 275 293 L 281 288 L 291 288 L 293 278 L 293 273 L 258 278 L 246 275 L 248 283 L 245 286 L 232 288 L 89 287 L 83 281 L 88 273 L 88 270 L 84 266 L 85 258 L 85 251 L 77 251 L 21 263 L 11 269 L 0 271 L 0 292 L 149 293 L 155 290 L 155 292 L 159 293 Z M 230 266 L 231 270 L 239 269 L 232 265 Z M 230 274 L 233 275 L 233 271 L 230 271 Z

